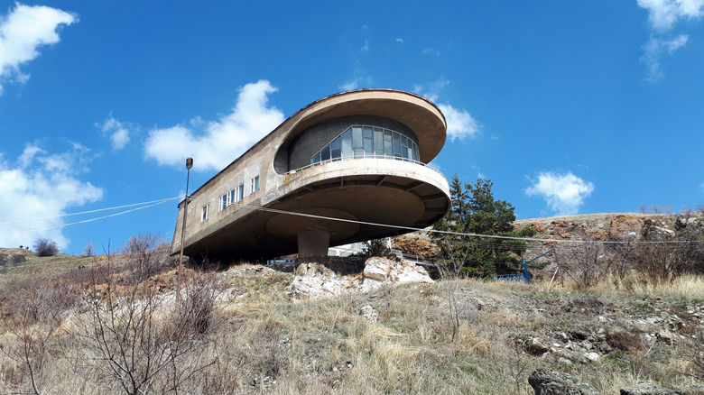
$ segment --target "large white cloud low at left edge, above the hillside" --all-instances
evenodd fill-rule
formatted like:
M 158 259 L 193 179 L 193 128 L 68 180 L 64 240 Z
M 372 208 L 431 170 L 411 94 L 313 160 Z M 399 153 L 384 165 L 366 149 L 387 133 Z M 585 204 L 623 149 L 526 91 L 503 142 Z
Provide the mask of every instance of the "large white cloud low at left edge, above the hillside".
M 103 189 L 76 178 L 89 161 L 88 153 L 80 144 L 58 154 L 27 145 L 15 164 L 0 161 L 0 246 L 32 245 L 39 238 L 56 242 L 60 249 L 69 245 L 61 231 L 65 222 L 55 216 L 103 197 Z M 34 218 L 44 219 L 26 221 Z

